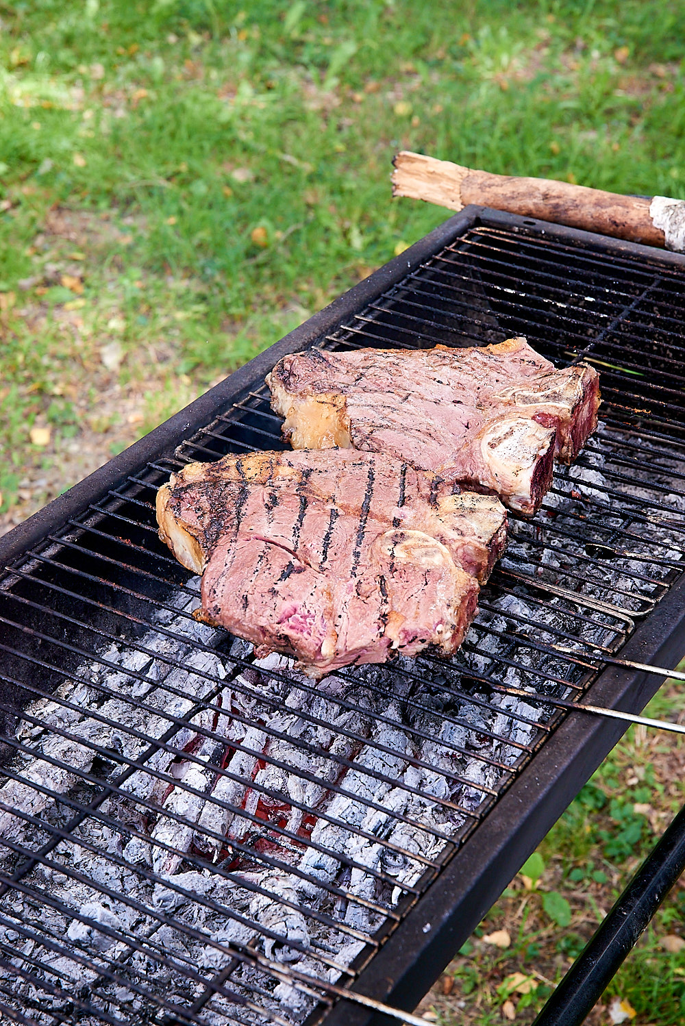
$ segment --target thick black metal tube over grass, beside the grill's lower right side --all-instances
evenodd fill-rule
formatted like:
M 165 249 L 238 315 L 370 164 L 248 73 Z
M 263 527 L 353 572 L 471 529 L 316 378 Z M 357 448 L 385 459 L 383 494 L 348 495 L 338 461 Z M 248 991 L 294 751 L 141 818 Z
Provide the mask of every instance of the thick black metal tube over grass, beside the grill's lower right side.
M 533 1026 L 579 1026 L 685 869 L 685 808 L 647 856 Z

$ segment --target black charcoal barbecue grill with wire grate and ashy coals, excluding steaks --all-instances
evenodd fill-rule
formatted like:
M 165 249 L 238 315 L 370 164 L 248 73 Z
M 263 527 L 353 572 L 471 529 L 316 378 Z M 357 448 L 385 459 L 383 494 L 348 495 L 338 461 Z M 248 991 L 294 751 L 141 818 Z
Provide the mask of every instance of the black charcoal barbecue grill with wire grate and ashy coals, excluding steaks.
M 626 728 L 560 705 L 640 711 L 662 675 L 620 661 L 683 655 L 684 284 L 680 255 L 467 207 L 0 540 L 3 1015 L 415 1005 Z M 456 657 L 317 684 L 193 619 L 155 491 L 284 447 L 281 356 L 516 334 L 599 369 L 601 423 L 512 516 Z

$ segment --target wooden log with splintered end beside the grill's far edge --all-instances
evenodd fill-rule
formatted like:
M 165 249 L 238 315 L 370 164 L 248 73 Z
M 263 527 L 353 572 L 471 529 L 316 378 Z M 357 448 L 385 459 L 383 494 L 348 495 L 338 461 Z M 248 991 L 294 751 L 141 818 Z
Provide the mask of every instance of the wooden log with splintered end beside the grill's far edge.
M 393 195 L 450 210 L 469 203 L 551 221 L 631 242 L 685 251 L 685 201 L 620 196 L 550 179 L 522 179 L 472 170 L 403 150 L 393 161 Z

